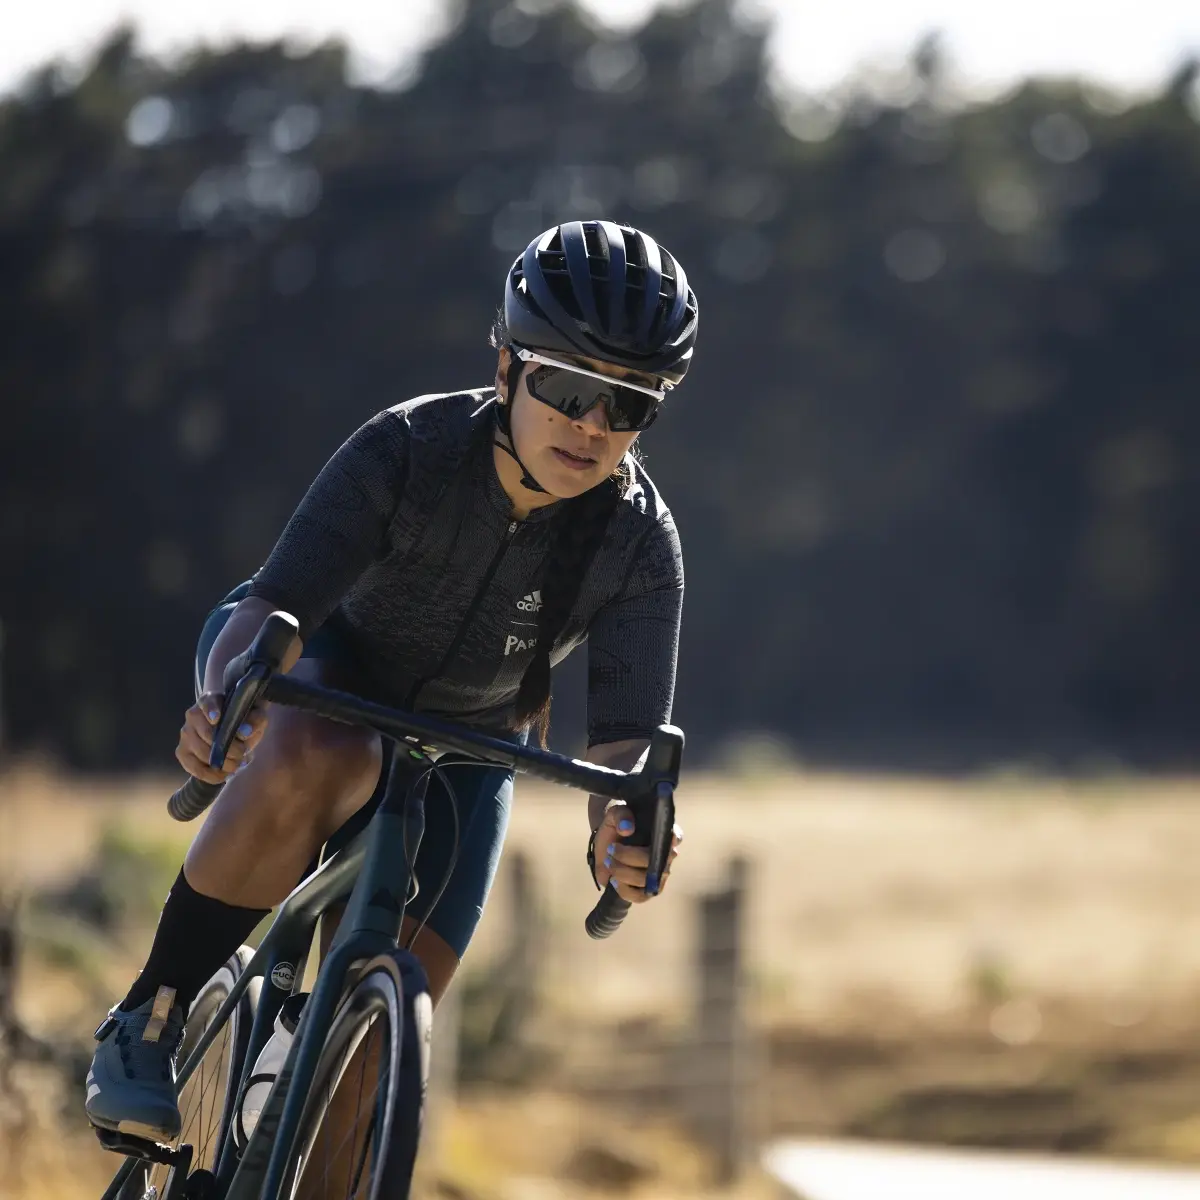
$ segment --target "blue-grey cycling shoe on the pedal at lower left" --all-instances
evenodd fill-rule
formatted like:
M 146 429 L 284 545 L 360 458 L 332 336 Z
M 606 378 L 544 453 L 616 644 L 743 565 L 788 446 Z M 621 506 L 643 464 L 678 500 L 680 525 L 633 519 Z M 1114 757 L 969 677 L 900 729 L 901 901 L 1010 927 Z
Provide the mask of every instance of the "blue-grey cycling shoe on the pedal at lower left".
M 174 988 L 160 988 L 128 1013 L 110 1009 L 96 1030 L 85 1108 L 97 1129 L 167 1145 L 179 1138 L 175 1056 L 186 1014 L 174 1000 Z

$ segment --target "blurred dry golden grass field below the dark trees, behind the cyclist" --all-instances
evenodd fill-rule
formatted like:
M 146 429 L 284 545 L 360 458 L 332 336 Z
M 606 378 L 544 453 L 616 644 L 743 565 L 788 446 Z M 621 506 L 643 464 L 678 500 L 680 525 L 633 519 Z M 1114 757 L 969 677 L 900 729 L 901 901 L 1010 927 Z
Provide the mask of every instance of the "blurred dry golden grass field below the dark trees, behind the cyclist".
M 169 786 L 0 775 L 0 878 L 25 898 L 18 1009 L 38 1036 L 85 1048 L 139 965 L 192 832 L 167 817 Z M 510 846 L 541 899 L 540 1066 L 460 1093 L 430 1195 L 704 1194 L 672 1063 L 694 898 L 739 856 L 762 1134 L 1200 1160 L 1198 800 L 1193 780 L 696 778 L 671 890 L 593 943 L 583 806 L 522 787 Z M 130 898 L 104 928 L 38 899 L 97 870 Z M 502 872 L 469 972 L 505 953 L 508 889 Z M 98 1194 L 112 1162 L 78 1097 L 26 1067 L 10 1092 L 0 1196 Z

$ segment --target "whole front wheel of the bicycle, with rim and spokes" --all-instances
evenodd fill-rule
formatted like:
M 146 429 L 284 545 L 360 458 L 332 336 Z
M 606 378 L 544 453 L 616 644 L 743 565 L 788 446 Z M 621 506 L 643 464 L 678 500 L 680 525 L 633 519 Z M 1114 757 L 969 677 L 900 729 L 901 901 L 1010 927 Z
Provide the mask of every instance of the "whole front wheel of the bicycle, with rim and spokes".
M 408 1195 L 420 1094 L 403 1069 L 403 1014 L 397 971 L 384 961 L 334 1018 L 288 1158 L 288 1200 Z

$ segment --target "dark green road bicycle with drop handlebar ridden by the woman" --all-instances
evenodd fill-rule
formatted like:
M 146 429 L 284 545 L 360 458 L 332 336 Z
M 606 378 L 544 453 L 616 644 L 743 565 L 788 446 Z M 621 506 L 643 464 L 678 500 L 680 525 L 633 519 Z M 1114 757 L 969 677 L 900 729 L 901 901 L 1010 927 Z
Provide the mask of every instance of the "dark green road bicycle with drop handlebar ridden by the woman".
M 637 770 L 613 770 L 292 679 L 280 665 L 296 630 L 290 614 L 272 613 L 251 647 L 226 668 L 226 704 L 210 762 L 224 762 L 238 726 L 256 704 L 269 701 L 372 728 L 388 739 L 383 798 L 366 828 L 316 865 L 283 901 L 258 948 L 242 947 L 191 1006 L 178 1073 L 184 1116 L 178 1144 L 97 1130 L 103 1145 L 126 1154 L 103 1200 L 408 1196 L 428 1080 L 433 1006 L 425 972 L 401 946 L 400 935 L 431 775 L 439 775 L 454 804 L 444 775 L 448 763 L 502 766 L 623 800 L 635 817 L 635 832 L 625 841 L 649 847 L 647 892 L 656 894 L 665 875 L 683 756 L 680 730 L 660 726 Z M 188 779 L 168 810 L 176 820 L 191 821 L 221 787 Z M 448 876 L 452 869 L 451 859 Z M 343 902 L 337 931 L 305 997 L 300 988 L 317 923 Z M 605 888 L 586 919 L 587 932 L 607 937 L 629 907 Z M 239 1136 L 242 1098 L 258 1082 L 252 1067 L 293 996 L 289 1009 L 302 1007 L 287 1057 L 253 1129 Z

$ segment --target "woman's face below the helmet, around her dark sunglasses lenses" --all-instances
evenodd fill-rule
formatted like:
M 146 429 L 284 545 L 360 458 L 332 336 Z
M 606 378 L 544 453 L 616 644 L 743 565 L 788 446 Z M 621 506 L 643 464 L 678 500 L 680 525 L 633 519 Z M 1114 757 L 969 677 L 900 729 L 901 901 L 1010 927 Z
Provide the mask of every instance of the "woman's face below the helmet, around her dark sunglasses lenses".
M 500 395 L 506 386 L 510 353 L 506 347 L 500 350 L 497 371 L 497 390 Z M 571 361 L 588 371 L 599 371 L 614 379 L 629 379 L 631 383 L 641 383 L 649 388 L 658 385 L 658 380 L 648 376 L 625 371 L 596 359 L 575 355 L 570 359 L 562 355 L 562 359 L 564 362 Z M 547 492 L 568 500 L 607 479 L 617 469 L 625 451 L 637 440 L 637 434 L 613 433 L 608 428 L 608 414 L 604 404 L 595 404 L 574 420 L 564 416 L 529 394 L 526 383 L 528 373 L 527 365 L 517 382 L 516 396 L 509 397 L 512 437 L 517 452 Z

